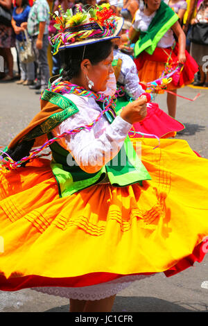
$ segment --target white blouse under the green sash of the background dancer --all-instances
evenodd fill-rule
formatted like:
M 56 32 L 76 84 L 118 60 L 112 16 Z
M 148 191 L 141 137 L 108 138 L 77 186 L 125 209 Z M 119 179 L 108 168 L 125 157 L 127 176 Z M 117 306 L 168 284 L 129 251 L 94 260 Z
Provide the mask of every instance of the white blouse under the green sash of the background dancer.
M 142 32 L 147 31 L 148 26 L 150 25 L 150 22 L 152 22 L 155 15 L 156 15 L 156 12 L 153 12 L 152 15 L 146 16 L 146 15 L 144 15 L 143 11 L 138 9 L 135 14 L 135 21 L 132 24 L 135 31 L 142 31 Z M 168 31 L 163 35 L 162 39 L 159 40 L 159 42 L 157 43 L 157 46 L 159 48 L 166 49 L 166 48 L 172 46 L 174 41 L 175 41 L 175 39 L 173 36 L 173 31 L 171 28 L 169 28 Z

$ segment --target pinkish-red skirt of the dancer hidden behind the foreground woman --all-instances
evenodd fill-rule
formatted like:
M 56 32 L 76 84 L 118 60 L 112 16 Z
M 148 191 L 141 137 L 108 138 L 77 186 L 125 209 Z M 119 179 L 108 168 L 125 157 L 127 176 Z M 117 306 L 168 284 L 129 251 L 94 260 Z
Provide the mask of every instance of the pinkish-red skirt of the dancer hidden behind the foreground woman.
M 173 132 L 178 132 L 184 129 L 184 126 L 179 121 L 173 119 L 164 111 L 159 109 L 157 103 L 150 103 L 147 108 L 147 115 L 144 120 L 134 123 L 133 128 L 137 132 L 154 134 L 159 138 L 171 137 Z M 134 129 L 131 129 L 134 131 Z M 133 134 L 130 132 L 130 137 L 142 137 L 142 135 Z M 154 136 L 144 136 L 154 138 Z

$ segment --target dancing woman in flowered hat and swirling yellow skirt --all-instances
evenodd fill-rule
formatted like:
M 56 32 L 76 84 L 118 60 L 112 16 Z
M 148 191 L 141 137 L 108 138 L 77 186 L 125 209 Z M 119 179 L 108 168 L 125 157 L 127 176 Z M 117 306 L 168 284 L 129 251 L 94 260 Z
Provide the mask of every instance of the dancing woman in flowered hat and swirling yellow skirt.
M 207 160 L 182 140 L 130 141 L 146 98 L 116 115 L 101 94 L 122 26 L 103 10 L 59 18 L 62 76 L 1 157 L 0 289 L 60 295 L 70 311 L 111 311 L 131 282 L 202 261 L 208 234 Z

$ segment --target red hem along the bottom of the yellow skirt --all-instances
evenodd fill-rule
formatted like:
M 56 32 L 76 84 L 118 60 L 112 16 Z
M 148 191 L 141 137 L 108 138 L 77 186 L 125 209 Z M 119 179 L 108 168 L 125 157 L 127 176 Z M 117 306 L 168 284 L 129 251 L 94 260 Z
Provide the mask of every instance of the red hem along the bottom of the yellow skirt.
M 194 248 L 193 253 L 187 257 L 184 257 L 178 261 L 175 266 L 164 271 L 166 277 L 171 277 L 186 268 L 193 266 L 198 261 L 201 262 L 204 259 L 205 254 L 208 252 L 208 239 L 205 239 Z M 142 275 L 151 275 L 154 273 L 143 273 Z M 139 275 L 139 274 L 136 274 Z M 3 275 L 0 276 L 0 290 L 1 291 L 18 291 L 21 289 L 31 288 L 35 286 L 63 286 L 63 287 L 79 287 L 89 286 L 93 284 L 109 282 L 115 280 L 123 275 L 111 274 L 111 273 L 92 273 L 87 275 L 81 275 L 77 277 L 67 278 L 50 278 L 42 277 L 38 275 L 28 275 L 24 277 L 10 277 L 6 280 Z

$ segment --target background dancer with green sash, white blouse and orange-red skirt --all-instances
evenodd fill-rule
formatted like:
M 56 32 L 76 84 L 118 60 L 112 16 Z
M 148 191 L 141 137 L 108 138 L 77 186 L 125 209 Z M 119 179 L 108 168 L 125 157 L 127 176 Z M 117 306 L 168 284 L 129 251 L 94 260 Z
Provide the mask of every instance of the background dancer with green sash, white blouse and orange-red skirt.
M 144 10 L 137 10 L 128 35 L 122 36 L 123 42 L 127 37 L 135 42 L 135 63 L 143 82 L 156 80 L 164 71 L 181 65 L 181 71 L 167 86 L 176 94 L 177 88 L 193 82 L 198 65 L 185 51 L 186 37 L 173 10 L 160 0 L 145 0 L 144 3 Z M 173 33 L 177 37 L 176 44 Z M 176 115 L 175 94 L 167 94 L 168 114 L 173 118 Z

